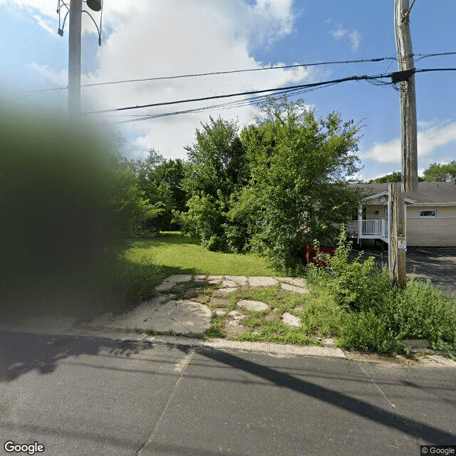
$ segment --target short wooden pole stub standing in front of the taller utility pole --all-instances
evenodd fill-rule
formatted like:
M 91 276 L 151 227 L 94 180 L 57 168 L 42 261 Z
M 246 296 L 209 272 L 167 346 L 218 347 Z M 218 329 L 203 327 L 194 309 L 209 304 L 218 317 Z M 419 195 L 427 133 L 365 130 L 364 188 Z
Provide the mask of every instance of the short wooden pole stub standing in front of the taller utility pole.
M 403 183 L 395 182 L 388 189 L 388 263 L 390 277 L 400 289 L 405 289 L 405 201 Z

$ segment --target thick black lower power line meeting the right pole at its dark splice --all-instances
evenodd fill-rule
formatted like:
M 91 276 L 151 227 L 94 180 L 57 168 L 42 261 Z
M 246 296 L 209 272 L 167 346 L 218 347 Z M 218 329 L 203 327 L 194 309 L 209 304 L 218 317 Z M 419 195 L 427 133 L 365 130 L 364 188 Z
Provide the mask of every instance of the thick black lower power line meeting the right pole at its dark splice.
M 424 73 L 426 71 L 456 71 L 456 68 L 425 68 L 421 70 L 416 70 L 413 69 L 411 73 Z M 244 96 L 244 95 L 254 95 L 257 93 L 288 93 L 294 90 L 299 90 L 299 89 L 307 89 L 307 88 L 318 88 L 322 86 L 331 86 L 333 84 L 339 84 L 347 81 L 372 81 L 376 82 L 380 85 L 391 85 L 395 83 L 396 81 L 390 81 L 390 82 L 382 82 L 382 79 L 385 78 L 392 78 L 394 75 L 398 75 L 400 72 L 395 72 L 395 73 L 383 73 L 375 76 L 348 76 L 347 78 L 338 78 L 338 79 L 333 79 L 332 81 L 321 81 L 318 83 L 309 83 L 309 84 L 299 84 L 297 86 L 287 86 L 287 87 L 280 87 L 280 88 L 267 88 L 267 89 L 262 89 L 262 90 L 249 90 L 247 92 L 237 92 L 237 93 L 227 93 L 224 95 L 212 95 L 212 96 L 207 96 L 207 97 L 201 97 L 201 98 L 186 98 L 182 100 L 173 100 L 173 101 L 164 101 L 161 103 L 148 103 L 146 105 L 135 105 L 135 106 L 125 106 L 123 108 L 113 108 L 113 109 L 105 109 L 105 110 L 97 110 L 97 111 L 89 111 L 88 113 L 85 114 L 102 114 L 102 113 L 114 113 L 118 111 L 124 111 L 124 110 L 132 110 L 132 109 L 143 109 L 143 108 L 156 108 L 157 106 L 167 106 L 167 105 L 177 105 L 177 104 L 182 104 L 182 103 L 194 103 L 196 101 L 207 101 L 207 100 L 217 100 L 220 98 L 231 98 L 231 97 L 236 97 L 236 96 Z

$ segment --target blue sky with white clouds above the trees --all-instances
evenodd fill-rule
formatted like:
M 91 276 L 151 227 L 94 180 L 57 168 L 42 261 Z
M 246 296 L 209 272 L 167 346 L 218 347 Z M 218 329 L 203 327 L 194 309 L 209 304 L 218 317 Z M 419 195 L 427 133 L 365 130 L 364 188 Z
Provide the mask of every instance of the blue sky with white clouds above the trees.
M 6 103 L 66 112 L 68 19 L 61 37 L 56 6 L 57 0 L 0 0 L 0 98 Z M 456 52 L 455 17 L 454 0 L 415 1 L 410 31 L 416 68 L 456 68 L 456 55 L 418 60 L 418 54 Z M 100 14 L 93 18 L 99 24 Z M 100 47 L 97 35 L 83 14 L 83 84 L 391 59 L 83 87 L 83 113 L 398 71 L 394 0 L 104 0 Z M 418 73 L 415 82 L 418 171 L 423 174 L 432 162 L 456 159 L 456 71 Z M 289 99 L 298 97 L 318 117 L 336 110 L 343 120 L 363 125 L 358 179 L 400 170 L 400 102 L 393 86 L 348 81 Z M 195 142 L 196 128 L 209 115 L 237 120 L 243 128 L 254 122 L 257 106 L 164 114 L 245 98 L 87 116 L 119 130 L 130 157 L 154 148 L 165 158 L 185 159 L 184 147 Z M 145 115 L 160 116 L 143 120 Z

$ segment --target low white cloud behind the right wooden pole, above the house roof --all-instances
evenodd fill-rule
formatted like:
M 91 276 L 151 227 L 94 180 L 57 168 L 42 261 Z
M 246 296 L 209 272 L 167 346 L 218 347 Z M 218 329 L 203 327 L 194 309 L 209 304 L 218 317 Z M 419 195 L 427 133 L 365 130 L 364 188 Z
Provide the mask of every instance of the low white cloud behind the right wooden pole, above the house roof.
M 456 141 L 456 122 L 437 123 L 421 122 L 418 124 L 418 157 L 432 155 L 439 147 Z M 381 143 L 375 143 L 371 149 L 363 154 L 363 158 L 370 158 L 380 163 L 400 163 L 400 138 Z

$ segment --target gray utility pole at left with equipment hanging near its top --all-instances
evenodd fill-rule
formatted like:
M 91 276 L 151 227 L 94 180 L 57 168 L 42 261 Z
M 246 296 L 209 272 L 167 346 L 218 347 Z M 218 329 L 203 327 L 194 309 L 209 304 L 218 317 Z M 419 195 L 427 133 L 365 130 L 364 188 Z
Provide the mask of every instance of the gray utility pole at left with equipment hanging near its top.
M 68 113 L 81 114 L 81 19 L 82 0 L 70 2 L 68 37 Z

